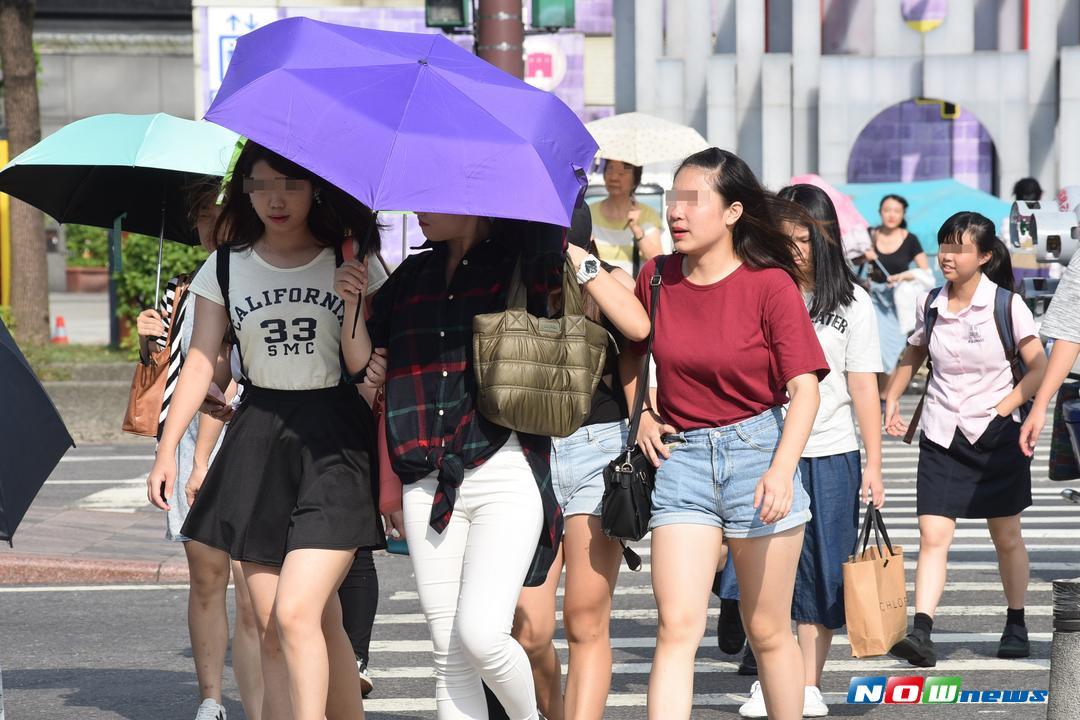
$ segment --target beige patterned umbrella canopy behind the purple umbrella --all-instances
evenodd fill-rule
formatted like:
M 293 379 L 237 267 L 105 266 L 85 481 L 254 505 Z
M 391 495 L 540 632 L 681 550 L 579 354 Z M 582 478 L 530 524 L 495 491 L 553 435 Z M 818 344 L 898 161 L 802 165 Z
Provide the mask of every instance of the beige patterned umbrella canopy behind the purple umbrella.
M 644 112 L 602 118 L 585 128 L 600 146 L 597 158 L 631 165 L 681 160 L 708 147 L 694 128 Z

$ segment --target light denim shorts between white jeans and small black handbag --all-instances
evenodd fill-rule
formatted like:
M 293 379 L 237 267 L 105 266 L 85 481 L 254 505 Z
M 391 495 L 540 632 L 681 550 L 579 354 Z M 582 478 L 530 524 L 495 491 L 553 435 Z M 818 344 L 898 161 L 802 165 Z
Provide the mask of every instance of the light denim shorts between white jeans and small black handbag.
M 551 475 L 563 515 L 599 515 L 604 468 L 626 446 L 625 422 L 579 427 L 551 438 Z

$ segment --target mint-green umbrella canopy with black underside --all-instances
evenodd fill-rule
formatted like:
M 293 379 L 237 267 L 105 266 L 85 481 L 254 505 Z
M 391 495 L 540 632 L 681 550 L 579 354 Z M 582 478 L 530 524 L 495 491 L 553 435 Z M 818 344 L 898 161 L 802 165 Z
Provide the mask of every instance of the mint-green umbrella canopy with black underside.
M 104 114 L 65 125 L 0 171 L 0 192 L 58 222 L 111 228 L 197 244 L 184 190 L 224 175 L 238 136 L 168 114 Z

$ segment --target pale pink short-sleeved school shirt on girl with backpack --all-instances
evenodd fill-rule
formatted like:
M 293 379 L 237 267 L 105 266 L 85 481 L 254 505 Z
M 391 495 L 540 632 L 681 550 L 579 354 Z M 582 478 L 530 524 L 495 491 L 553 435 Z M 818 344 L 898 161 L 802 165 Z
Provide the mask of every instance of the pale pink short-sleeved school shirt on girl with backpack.
M 995 406 L 1012 392 L 1012 370 L 994 324 L 997 287 L 983 275 L 971 304 L 951 313 L 948 309 L 951 283 L 946 283 L 931 303 L 937 310 L 937 322 L 930 337 L 934 371 L 921 424 L 927 437 L 942 447 L 953 444 L 957 429 L 974 444 L 997 415 Z M 915 331 L 907 339 L 908 344 L 927 343 L 923 324 L 927 295 L 919 298 Z M 1018 295 L 1013 296 L 1012 321 L 1017 345 L 1026 338 L 1037 337 L 1031 311 Z M 1017 412 L 1013 412 L 1013 420 L 1020 421 Z

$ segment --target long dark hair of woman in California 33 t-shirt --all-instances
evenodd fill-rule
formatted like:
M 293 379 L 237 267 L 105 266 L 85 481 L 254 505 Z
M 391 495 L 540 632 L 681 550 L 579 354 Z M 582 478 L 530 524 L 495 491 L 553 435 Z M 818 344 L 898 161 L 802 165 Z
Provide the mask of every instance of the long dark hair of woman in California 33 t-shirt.
M 379 233 L 377 228 L 373 229 L 375 216 L 370 208 L 306 167 L 252 140 L 244 144 L 244 149 L 237 158 L 232 177 L 225 189 L 221 215 L 214 226 L 214 234 L 221 245 L 243 250 L 262 236 L 266 228 L 244 192 L 244 180 L 251 176 L 252 168 L 260 160 L 286 178 L 309 180 L 312 189 L 319 193 L 319 200 L 312 202 L 308 214 L 308 228 L 315 242 L 324 247 L 340 247 L 346 237 L 354 236 L 361 242 L 356 254 L 361 258 L 378 249 Z

